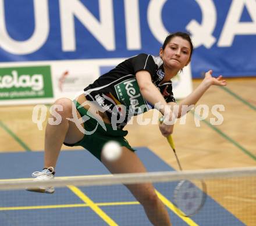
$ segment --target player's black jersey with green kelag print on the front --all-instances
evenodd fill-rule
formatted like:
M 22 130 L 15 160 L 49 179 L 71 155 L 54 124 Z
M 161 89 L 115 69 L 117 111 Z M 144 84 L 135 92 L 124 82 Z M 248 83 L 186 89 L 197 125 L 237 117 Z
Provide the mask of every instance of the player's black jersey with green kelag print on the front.
M 117 120 L 118 128 L 123 128 L 131 116 L 147 112 L 154 107 L 140 93 L 135 77 L 140 70 L 150 73 L 153 84 L 166 102 L 175 102 L 172 81 L 159 85 L 165 76 L 162 59 L 144 53 L 118 64 L 84 89 L 86 99 L 97 102 L 102 111 L 106 112 L 109 120 Z

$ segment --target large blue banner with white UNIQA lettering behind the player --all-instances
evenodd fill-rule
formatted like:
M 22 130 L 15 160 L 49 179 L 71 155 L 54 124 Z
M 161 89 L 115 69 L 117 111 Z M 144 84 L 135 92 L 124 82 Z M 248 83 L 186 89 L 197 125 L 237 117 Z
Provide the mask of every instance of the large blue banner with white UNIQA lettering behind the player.
M 255 12 L 255 0 L 0 0 L 0 60 L 158 55 L 168 33 L 189 31 L 194 77 L 251 76 Z

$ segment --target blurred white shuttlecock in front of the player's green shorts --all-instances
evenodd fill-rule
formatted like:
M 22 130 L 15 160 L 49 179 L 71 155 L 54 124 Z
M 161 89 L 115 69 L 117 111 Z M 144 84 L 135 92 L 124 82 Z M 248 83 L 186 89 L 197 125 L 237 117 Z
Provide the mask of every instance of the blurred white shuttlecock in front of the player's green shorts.
M 115 161 L 122 154 L 122 147 L 116 141 L 107 142 L 102 148 L 102 155 L 106 160 Z

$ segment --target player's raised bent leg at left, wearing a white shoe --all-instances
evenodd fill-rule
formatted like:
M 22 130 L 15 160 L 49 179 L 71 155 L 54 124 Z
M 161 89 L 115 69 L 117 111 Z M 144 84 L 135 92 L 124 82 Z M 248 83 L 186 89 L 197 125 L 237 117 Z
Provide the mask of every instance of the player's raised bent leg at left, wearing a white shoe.
M 67 118 L 73 119 L 72 107 L 77 119 L 81 117 L 76 108 L 74 108 L 76 107 L 74 103 L 70 99 L 61 98 L 55 102 L 56 105 L 59 108 L 57 107 L 55 112 L 53 111 L 49 117 L 55 123 L 48 123 L 45 131 L 45 168 L 42 171 L 35 171 L 32 174 L 35 177 L 34 181 L 52 180 L 63 141 L 67 142 L 67 144 L 74 144 L 84 137 L 83 132 L 80 132 L 76 124 L 67 120 Z M 54 193 L 55 189 L 53 186 L 37 186 L 35 188 L 27 188 L 27 191 Z

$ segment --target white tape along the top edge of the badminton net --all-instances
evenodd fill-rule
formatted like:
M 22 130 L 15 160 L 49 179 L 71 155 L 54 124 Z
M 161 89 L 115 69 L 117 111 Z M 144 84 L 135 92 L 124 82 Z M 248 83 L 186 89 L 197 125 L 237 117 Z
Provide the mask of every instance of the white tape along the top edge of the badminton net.
M 66 185 L 95 186 L 116 184 L 140 184 L 143 182 L 168 182 L 179 180 L 207 180 L 214 178 L 255 177 L 256 167 L 221 168 L 207 170 L 161 171 L 152 173 L 84 175 L 74 177 L 55 177 L 50 181 L 33 181 L 31 179 L 0 180 L 0 190 L 26 189 L 35 186 Z

